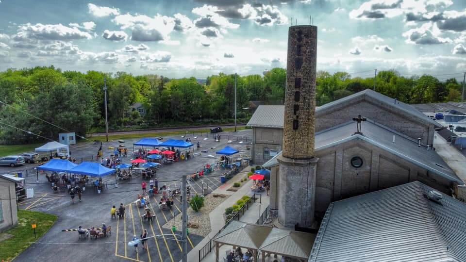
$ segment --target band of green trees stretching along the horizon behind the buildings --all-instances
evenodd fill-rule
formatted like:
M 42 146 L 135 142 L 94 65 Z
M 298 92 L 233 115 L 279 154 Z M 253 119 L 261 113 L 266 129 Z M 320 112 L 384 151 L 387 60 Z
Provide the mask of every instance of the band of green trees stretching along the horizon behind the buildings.
M 33 143 L 43 140 L 33 133 L 56 139 L 62 132 L 33 116 L 83 136 L 89 131 L 102 131 L 105 126 L 104 80 L 111 129 L 233 121 L 233 74 L 220 73 L 200 81 L 194 77 L 169 79 L 155 74 L 62 71 L 54 66 L 8 69 L 0 72 L 0 101 L 3 102 L 0 103 L 0 142 Z M 250 101 L 283 103 L 285 82 L 283 68 L 273 68 L 264 75 L 237 76 L 238 119 L 248 121 Z M 317 105 L 372 88 L 373 83 L 374 78 L 319 71 Z M 454 78 L 446 82 L 430 75 L 405 78 L 393 70 L 377 74 L 376 91 L 407 103 L 461 99 L 461 84 Z M 141 103 L 144 114 L 130 108 L 136 102 Z

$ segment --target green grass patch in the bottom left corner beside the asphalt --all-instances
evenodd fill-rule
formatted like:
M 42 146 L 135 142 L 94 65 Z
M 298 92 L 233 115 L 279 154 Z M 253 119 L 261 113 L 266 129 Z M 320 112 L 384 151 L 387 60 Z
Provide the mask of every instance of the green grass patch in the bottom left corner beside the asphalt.
M 16 227 L 5 231 L 13 237 L 0 242 L 0 261 L 11 261 L 19 253 L 23 252 L 31 244 L 44 235 L 57 220 L 56 215 L 19 210 L 18 224 Z M 34 239 L 34 231 L 31 224 L 36 224 L 35 233 L 37 238 Z

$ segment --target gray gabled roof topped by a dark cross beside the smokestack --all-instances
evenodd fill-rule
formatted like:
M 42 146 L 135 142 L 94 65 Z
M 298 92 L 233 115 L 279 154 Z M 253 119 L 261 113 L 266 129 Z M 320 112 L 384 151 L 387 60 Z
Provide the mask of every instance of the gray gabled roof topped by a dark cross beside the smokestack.
M 446 179 L 464 184 L 463 180 L 456 176 L 453 170 L 449 168 L 448 164 L 443 161 L 437 152 L 427 150 L 426 147 L 418 147 L 417 142 L 410 137 L 384 127 L 383 125 L 374 123 L 370 119 L 362 123 L 361 131 L 363 135 L 353 135 L 355 131 L 356 123 L 350 121 L 317 132 L 315 138 L 316 152 L 353 139 L 361 139 Z M 393 136 L 395 136 L 395 143 L 393 143 Z M 272 158 L 263 166 L 270 168 L 277 164 L 277 159 Z

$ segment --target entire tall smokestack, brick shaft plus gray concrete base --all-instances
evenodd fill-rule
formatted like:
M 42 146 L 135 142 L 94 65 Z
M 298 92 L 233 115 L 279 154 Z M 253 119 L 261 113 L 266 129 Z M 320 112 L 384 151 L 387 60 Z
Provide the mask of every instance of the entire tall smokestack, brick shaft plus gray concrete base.
M 291 26 L 288 31 L 281 196 L 278 220 L 286 228 L 313 227 L 316 169 L 317 27 Z

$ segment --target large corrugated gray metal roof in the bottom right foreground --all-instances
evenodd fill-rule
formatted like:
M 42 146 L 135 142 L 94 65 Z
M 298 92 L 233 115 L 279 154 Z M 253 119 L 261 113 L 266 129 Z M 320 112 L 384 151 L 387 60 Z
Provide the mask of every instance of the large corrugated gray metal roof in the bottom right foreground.
M 419 182 L 330 204 L 309 262 L 466 261 L 466 204 Z

